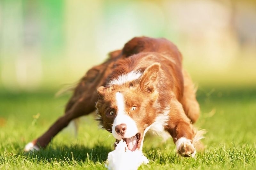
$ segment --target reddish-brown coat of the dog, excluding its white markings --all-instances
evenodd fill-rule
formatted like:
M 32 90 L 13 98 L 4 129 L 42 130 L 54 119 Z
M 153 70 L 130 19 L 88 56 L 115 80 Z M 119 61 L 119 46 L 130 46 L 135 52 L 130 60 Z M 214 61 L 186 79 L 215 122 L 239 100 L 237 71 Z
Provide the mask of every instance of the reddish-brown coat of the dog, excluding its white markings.
M 120 74 L 132 70 L 140 70 L 143 75 L 138 80 L 122 85 L 108 85 Z M 136 121 L 141 132 L 153 123 L 164 108 L 169 108 L 170 119 L 164 129 L 172 135 L 174 142 L 181 137 L 192 141 L 195 132 L 191 123 L 199 117 L 199 104 L 194 84 L 182 68 L 181 53 L 166 39 L 139 37 L 127 42 L 122 50 L 110 53 L 104 63 L 92 67 L 76 86 L 65 115 L 33 143 L 45 147 L 71 120 L 95 110 L 97 101 L 100 123 L 111 131 L 114 117 L 106 113 L 109 109 L 115 110 L 112 101 L 117 91 L 125 93 L 127 106 L 136 105 L 139 108 L 132 113 L 126 111 Z

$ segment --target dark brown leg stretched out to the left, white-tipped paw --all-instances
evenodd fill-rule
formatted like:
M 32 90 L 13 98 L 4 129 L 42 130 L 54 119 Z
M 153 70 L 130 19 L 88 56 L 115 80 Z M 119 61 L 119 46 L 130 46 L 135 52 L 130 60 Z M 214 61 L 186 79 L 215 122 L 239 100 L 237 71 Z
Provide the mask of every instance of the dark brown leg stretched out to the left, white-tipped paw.
M 73 96 L 70 98 L 65 115 L 60 117 L 52 126 L 39 138 L 33 140 L 25 146 L 25 151 L 39 150 L 45 147 L 52 138 L 66 127 L 69 122 L 77 117 L 87 115 L 95 109 L 98 99 L 97 88 L 105 85 L 107 75 L 112 69 L 115 57 L 99 66 L 92 67 L 78 83 Z

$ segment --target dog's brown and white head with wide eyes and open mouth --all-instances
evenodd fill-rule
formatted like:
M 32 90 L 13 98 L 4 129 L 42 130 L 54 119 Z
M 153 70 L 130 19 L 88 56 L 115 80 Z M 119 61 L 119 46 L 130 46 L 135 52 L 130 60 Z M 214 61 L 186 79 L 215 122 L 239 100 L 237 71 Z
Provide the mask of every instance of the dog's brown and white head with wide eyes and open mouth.
M 98 88 L 96 103 L 100 124 L 113 136 L 124 139 L 132 151 L 140 149 L 145 129 L 156 117 L 159 64 L 148 67 L 140 78 Z

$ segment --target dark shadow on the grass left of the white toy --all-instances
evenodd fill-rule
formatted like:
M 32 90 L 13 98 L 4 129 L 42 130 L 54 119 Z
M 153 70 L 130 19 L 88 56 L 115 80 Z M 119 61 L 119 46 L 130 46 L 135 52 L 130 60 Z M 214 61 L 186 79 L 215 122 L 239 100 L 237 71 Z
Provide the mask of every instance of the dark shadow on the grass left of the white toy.
M 93 163 L 102 163 L 108 158 L 109 152 L 111 152 L 111 148 L 102 145 L 95 145 L 93 148 L 84 145 L 61 145 L 54 147 L 50 145 L 38 152 L 24 152 L 24 156 L 28 159 L 36 159 L 36 161 L 85 162 L 89 159 Z

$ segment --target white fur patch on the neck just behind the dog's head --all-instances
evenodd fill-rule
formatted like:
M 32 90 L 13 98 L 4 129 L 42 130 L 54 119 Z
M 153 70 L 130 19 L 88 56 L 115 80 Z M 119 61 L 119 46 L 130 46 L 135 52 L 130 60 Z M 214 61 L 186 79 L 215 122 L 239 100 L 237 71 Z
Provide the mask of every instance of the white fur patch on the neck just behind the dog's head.
M 108 85 L 109 86 L 115 85 L 115 84 L 122 85 L 126 82 L 133 81 L 140 78 L 141 75 L 142 73 L 140 71 L 131 71 L 130 73 L 119 75 L 117 79 L 111 80 L 108 83 Z

